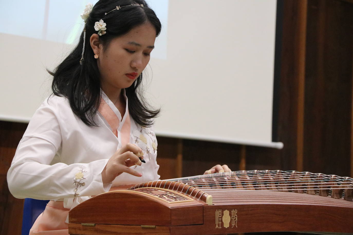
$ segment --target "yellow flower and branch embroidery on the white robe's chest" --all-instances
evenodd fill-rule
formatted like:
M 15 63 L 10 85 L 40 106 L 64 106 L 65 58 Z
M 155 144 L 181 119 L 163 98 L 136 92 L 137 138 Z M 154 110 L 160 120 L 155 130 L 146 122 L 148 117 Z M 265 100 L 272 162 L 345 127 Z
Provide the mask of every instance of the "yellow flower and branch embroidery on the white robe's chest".
M 140 130 L 133 131 L 134 143 L 140 147 L 146 154 L 148 154 L 148 159 L 151 160 L 151 150 L 156 153 L 157 143 L 156 135 L 149 128 L 140 126 Z M 152 148 L 151 148 L 152 147 Z

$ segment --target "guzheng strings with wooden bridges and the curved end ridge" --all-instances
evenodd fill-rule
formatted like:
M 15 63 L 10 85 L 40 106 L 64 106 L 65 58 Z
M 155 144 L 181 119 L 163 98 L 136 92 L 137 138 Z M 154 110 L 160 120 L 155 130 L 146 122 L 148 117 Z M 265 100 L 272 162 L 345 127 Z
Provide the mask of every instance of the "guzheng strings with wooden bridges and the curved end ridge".
M 337 175 L 297 171 L 233 171 L 221 172 L 192 177 L 158 180 L 142 183 L 131 187 L 166 188 L 184 193 L 194 198 L 203 198 L 204 202 L 212 203 L 212 195 L 222 196 L 241 191 L 261 193 L 264 191 L 297 192 L 319 194 L 336 199 L 352 201 L 353 179 Z M 216 193 L 216 194 L 215 194 Z M 208 200 L 210 199 L 210 200 Z M 210 205 L 210 204 L 209 204 Z

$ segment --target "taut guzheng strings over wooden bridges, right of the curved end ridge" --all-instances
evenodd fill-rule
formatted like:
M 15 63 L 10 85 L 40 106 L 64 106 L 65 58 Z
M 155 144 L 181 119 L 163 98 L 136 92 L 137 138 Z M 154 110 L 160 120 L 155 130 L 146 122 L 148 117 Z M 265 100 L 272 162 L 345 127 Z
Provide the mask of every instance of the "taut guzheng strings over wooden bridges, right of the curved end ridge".
M 164 181 L 164 180 L 163 180 Z M 234 171 L 193 177 L 168 179 L 204 192 L 237 192 L 249 190 L 306 191 L 347 190 L 353 188 L 353 179 L 337 175 L 297 171 Z M 162 184 L 162 183 L 161 183 Z M 160 185 L 160 187 L 163 185 Z M 170 187 L 170 185 L 169 185 Z M 175 184 L 174 186 L 175 187 Z M 170 188 L 172 189 L 172 188 Z M 222 189 L 222 191 L 219 191 Z M 330 192 L 331 193 L 331 192 Z M 344 196 L 344 193 L 342 193 Z

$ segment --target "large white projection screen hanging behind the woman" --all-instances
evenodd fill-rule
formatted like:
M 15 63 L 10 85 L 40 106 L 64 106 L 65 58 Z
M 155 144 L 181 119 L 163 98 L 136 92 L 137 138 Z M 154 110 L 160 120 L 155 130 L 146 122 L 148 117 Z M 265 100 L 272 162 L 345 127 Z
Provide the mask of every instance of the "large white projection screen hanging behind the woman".
M 147 2 L 162 23 L 143 82 L 162 109 L 156 134 L 281 148 L 271 141 L 276 0 Z M 1 1 L 1 120 L 29 122 L 51 93 L 46 68 L 77 43 L 86 4 Z

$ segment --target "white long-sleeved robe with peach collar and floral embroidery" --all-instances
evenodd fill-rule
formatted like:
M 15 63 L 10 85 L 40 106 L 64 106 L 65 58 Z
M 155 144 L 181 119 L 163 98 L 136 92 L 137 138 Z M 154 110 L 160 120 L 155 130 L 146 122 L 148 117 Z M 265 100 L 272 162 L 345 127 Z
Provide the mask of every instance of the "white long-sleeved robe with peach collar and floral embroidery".
M 12 195 L 52 200 L 43 213 L 50 207 L 66 210 L 67 215 L 69 209 L 91 196 L 109 191 L 112 186 L 158 180 L 156 136 L 152 128 L 143 128 L 130 117 L 125 90 L 123 92 L 124 117 L 102 93 L 101 105 L 94 116 L 97 127 L 87 126 L 74 115 L 65 97 L 47 98 L 29 122 L 8 170 L 7 182 Z M 112 183 L 103 184 L 101 172 L 108 159 L 128 142 L 143 149 L 146 163 L 132 166 L 142 177 L 122 173 Z M 50 213 L 46 216 L 50 217 Z M 54 226 L 58 230 L 52 234 L 67 234 L 67 218 L 66 224 L 60 223 Z M 53 229 L 47 225 L 37 228 L 38 234 L 42 229 Z M 59 228 L 62 226 L 66 226 L 65 231 Z M 34 227 L 32 234 L 37 232 L 33 231 Z

